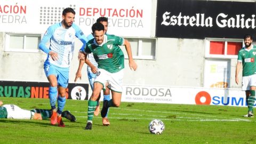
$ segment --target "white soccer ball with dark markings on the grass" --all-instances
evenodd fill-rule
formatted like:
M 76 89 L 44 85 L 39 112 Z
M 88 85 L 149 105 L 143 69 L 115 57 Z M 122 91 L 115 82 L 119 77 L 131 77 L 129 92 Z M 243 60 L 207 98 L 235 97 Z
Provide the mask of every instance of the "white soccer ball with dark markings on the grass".
M 162 134 L 164 131 L 164 123 L 159 119 L 154 119 L 149 123 L 148 130 L 153 134 Z

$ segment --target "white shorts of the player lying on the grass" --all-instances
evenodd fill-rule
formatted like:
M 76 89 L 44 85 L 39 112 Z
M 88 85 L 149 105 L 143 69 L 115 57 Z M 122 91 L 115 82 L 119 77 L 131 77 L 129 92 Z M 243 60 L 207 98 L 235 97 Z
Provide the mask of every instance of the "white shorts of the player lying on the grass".
M 21 109 L 20 107 L 16 105 L 3 105 L 3 107 L 6 108 L 7 111 L 7 118 L 13 118 L 13 119 L 31 119 L 33 115 L 35 115 L 34 112 L 30 110 Z

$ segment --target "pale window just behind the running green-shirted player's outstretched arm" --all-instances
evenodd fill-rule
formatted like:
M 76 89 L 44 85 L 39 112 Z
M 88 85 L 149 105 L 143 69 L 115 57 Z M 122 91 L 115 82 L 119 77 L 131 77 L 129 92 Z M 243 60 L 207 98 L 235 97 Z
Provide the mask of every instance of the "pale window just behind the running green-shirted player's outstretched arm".
M 131 44 L 133 59 L 156 59 L 156 38 L 124 38 Z M 127 59 L 125 47 L 121 46 L 121 49 Z

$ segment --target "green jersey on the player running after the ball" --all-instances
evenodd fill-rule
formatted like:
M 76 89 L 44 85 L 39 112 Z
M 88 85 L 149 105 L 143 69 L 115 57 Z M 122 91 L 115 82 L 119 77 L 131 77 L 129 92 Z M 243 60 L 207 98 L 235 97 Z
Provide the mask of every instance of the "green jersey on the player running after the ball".
M 105 34 L 101 45 L 98 45 L 93 38 L 86 43 L 84 52 L 93 53 L 98 68 L 116 73 L 124 68 L 124 53 L 119 45 L 124 45 L 124 38 Z

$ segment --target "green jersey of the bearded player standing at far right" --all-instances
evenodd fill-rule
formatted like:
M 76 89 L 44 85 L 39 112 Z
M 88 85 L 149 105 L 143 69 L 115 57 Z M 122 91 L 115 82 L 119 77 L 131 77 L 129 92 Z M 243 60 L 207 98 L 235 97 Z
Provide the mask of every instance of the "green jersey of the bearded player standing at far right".
M 243 47 L 238 52 L 237 61 L 243 64 L 243 76 L 250 76 L 256 74 L 256 46 L 252 45 L 250 51 Z

